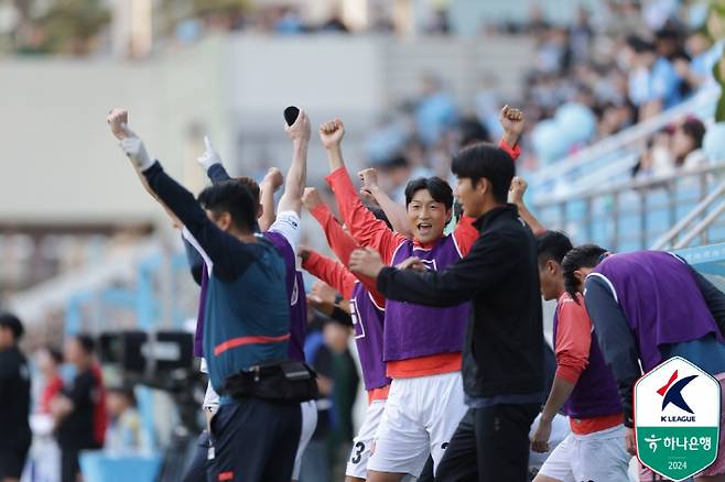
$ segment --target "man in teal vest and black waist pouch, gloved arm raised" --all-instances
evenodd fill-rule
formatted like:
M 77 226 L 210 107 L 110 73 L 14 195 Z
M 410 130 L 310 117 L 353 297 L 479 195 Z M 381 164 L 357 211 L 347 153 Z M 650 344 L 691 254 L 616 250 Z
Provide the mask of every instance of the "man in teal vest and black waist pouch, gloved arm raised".
M 113 117 L 112 112 L 111 127 Z M 133 132 L 126 125 L 122 131 L 121 149 L 188 231 L 208 267 L 204 353 L 212 386 L 221 398 L 210 424 L 215 453 L 207 476 L 288 482 L 300 441 L 300 405 L 256 395 L 266 375 L 251 372 L 288 357 L 290 300 L 284 261 L 271 243 L 255 234 L 257 205 L 246 186 L 220 183 L 204 189 L 197 201 L 158 161 L 151 161 Z M 232 397 L 227 391 L 238 381 L 248 384 L 244 391 L 248 396 Z

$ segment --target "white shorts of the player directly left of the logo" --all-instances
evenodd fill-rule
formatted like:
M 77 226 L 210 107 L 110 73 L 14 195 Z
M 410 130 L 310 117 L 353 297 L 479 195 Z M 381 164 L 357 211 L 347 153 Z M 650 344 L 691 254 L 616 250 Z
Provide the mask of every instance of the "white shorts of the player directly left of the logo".
M 628 482 L 630 458 L 625 449 L 625 427 L 618 425 L 594 434 L 570 435 L 539 473 L 563 482 Z

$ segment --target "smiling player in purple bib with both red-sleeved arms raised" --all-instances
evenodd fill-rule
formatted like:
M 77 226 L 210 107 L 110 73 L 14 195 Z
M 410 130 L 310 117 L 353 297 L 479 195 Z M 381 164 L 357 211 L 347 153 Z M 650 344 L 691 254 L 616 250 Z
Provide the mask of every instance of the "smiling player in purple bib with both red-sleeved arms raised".
M 510 154 L 499 147 L 490 149 L 507 160 L 512 169 L 511 154 L 518 155 L 518 149 L 510 147 L 509 142 L 516 143 L 523 119 L 519 111 L 510 109 L 505 109 L 501 119 L 507 138 L 501 146 Z M 465 217 L 451 235 L 443 234 L 452 217 L 453 191 L 437 177 L 408 184 L 405 198 L 412 240 L 376 220 L 361 206 L 345 169 L 339 145 L 343 135 L 344 127 L 339 120 L 321 128 L 331 166 L 327 182 L 345 223 L 360 245 L 379 250 L 388 265 L 419 256 L 422 260 L 420 265 L 433 272 L 444 270 L 468 253 L 479 235 L 478 230 L 473 226 L 473 219 Z M 506 191 L 509 184 L 510 178 Z M 397 482 L 404 474 L 416 476 L 429 454 L 433 457 L 434 470 L 442 459 L 466 412 L 459 371 L 470 306 L 464 302 L 466 299 L 434 308 L 419 302 L 409 304 L 388 299 L 383 357 L 392 383 L 376 437 L 375 453 L 368 462 L 369 481 Z

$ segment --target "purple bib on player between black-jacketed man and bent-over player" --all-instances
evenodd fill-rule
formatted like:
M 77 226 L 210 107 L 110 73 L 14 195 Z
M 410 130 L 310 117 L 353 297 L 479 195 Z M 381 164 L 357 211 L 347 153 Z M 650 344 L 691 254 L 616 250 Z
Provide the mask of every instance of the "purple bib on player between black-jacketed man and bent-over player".
M 567 295 L 569 296 L 569 295 Z M 584 303 L 581 299 L 580 303 Z M 559 305 L 554 313 L 554 350 L 559 328 Z M 621 398 L 612 369 L 604 361 L 596 333 L 592 331 L 589 360 L 576 381 L 574 391 L 564 404 L 564 413 L 572 418 L 592 418 L 621 413 Z

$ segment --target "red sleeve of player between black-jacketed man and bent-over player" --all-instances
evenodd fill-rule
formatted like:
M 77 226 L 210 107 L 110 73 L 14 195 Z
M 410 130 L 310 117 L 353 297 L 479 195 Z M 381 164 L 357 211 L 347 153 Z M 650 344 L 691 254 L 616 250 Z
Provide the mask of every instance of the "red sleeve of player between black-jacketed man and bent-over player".
M 569 296 L 562 298 L 556 327 L 556 376 L 576 383 L 589 363 L 592 320 L 584 308 Z

